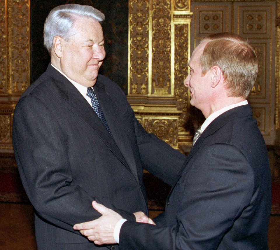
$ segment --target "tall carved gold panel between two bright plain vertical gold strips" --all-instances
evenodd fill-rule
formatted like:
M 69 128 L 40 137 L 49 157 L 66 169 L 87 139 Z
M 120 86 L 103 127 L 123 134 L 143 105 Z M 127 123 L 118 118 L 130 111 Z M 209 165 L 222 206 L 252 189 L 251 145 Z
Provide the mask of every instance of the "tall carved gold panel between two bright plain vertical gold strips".
M 152 0 L 152 94 L 171 94 L 171 4 Z

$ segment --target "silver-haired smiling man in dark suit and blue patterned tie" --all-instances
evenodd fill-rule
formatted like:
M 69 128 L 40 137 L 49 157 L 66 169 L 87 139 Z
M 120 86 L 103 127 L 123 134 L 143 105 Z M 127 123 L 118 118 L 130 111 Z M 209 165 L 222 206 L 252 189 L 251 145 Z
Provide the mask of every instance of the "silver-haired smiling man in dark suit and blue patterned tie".
M 100 11 L 76 4 L 49 13 L 51 64 L 15 108 L 13 147 L 35 209 L 38 250 L 118 249 L 96 246 L 73 225 L 100 217 L 92 200 L 128 220 L 148 214 L 143 167 L 173 185 L 185 160 L 148 134 L 118 85 L 98 74 L 102 20 Z

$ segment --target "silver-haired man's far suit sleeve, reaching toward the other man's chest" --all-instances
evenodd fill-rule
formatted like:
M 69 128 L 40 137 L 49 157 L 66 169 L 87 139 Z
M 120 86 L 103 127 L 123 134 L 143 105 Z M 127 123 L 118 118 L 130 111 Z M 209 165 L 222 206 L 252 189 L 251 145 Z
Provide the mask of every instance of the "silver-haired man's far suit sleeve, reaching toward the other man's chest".
M 186 156 L 154 134 L 147 133 L 135 116 L 134 127 L 143 167 L 157 178 L 173 186 Z

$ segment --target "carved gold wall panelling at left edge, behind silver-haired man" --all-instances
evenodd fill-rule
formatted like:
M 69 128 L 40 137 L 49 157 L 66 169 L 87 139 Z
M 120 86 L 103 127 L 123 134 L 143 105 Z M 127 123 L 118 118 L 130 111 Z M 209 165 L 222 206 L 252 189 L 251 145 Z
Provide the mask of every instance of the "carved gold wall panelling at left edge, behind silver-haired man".
M 30 85 L 30 1 L 0 0 L 0 153 L 13 153 L 13 110 Z

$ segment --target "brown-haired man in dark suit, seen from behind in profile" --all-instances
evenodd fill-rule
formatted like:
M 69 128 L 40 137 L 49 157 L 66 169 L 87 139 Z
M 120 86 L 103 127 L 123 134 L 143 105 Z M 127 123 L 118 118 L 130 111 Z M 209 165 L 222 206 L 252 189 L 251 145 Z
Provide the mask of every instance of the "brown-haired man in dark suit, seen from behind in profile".
M 167 198 L 165 214 L 137 223 L 93 202 L 103 214 L 74 226 L 96 244 L 120 249 L 246 249 L 267 247 L 271 179 L 263 137 L 246 98 L 258 63 L 235 34 L 216 34 L 192 53 L 185 86 L 206 120 Z M 200 134 L 200 136 L 199 136 Z M 156 225 L 152 225 L 156 224 Z

